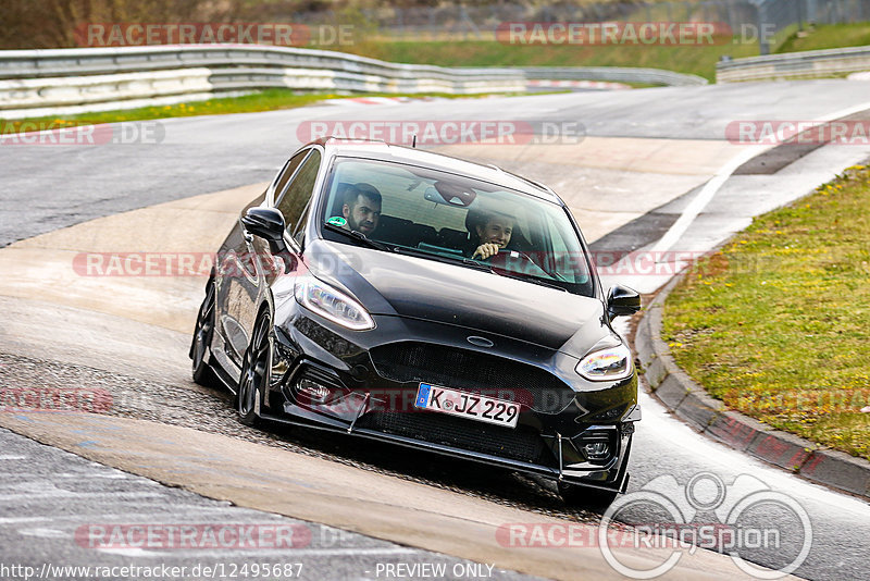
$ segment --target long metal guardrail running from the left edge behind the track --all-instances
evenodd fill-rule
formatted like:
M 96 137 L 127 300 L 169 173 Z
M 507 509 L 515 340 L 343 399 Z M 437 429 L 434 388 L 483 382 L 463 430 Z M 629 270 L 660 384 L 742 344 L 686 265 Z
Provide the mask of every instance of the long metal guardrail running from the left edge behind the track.
M 655 69 L 447 69 L 324 50 L 186 45 L 0 51 L 0 116 L 165 104 L 283 87 L 337 92 L 517 92 L 530 79 L 700 85 Z

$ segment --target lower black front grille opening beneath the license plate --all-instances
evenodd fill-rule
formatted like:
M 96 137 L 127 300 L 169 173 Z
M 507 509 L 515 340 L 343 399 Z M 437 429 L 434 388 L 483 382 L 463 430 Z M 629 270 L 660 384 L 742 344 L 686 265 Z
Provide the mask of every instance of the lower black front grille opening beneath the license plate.
M 533 463 L 542 463 L 546 450 L 531 428 L 502 428 L 430 411 L 371 411 L 357 427 Z

